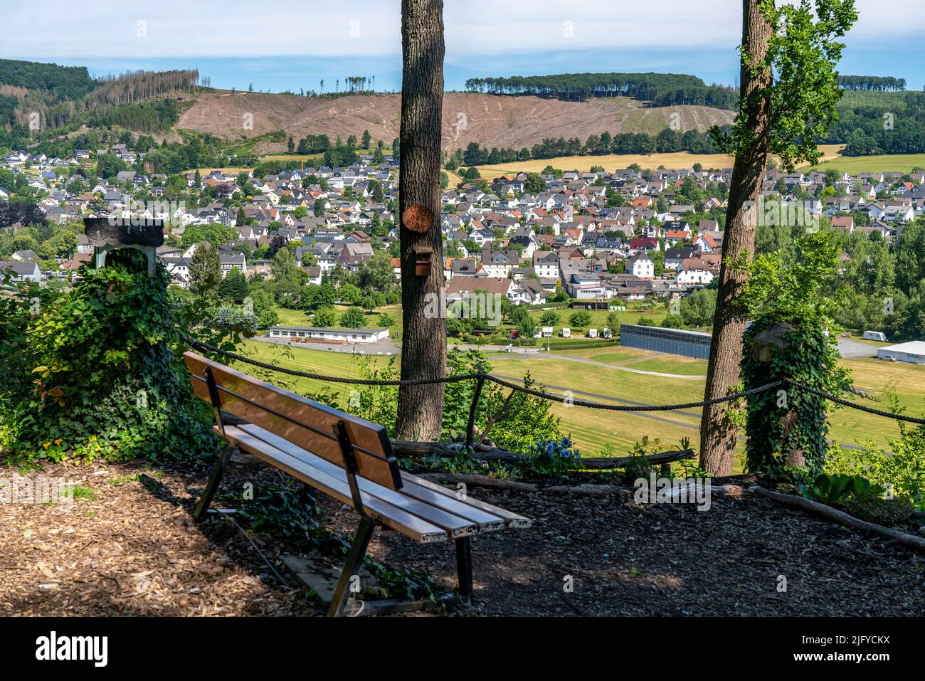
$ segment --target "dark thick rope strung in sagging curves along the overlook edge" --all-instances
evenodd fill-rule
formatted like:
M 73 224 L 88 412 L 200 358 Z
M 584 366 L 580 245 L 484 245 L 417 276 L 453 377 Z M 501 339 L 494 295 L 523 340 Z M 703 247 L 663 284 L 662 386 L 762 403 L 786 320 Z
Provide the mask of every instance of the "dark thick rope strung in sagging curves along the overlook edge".
M 865 406 L 863 404 L 858 404 L 857 402 L 851 402 L 850 400 L 845 400 L 836 395 L 825 392 L 824 390 L 818 390 L 812 388 L 804 383 L 793 379 L 782 379 L 772 381 L 771 383 L 766 383 L 763 386 L 758 386 L 757 388 L 751 388 L 749 390 L 742 390 L 740 392 L 734 392 L 730 395 L 724 395 L 723 397 L 713 398 L 711 400 L 701 400 L 699 402 L 684 402 L 680 404 L 608 404 L 606 402 L 591 402 L 588 400 L 574 400 L 571 397 L 565 397 L 561 395 L 554 395 L 545 390 L 535 390 L 533 388 L 526 388 L 518 383 L 512 383 L 511 381 L 505 380 L 503 378 L 498 378 L 492 374 L 483 373 L 481 367 L 478 373 L 475 374 L 459 374 L 456 376 L 447 376 L 443 378 L 401 378 L 396 380 L 386 380 L 386 379 L 374 379 L 374 378 L 344 378 L 340 376 L 326 376 L 324 374 L 315 374 L 310 371 L 299 371 L 298 369 L 289 369 L 283 366 L 271 365 L 265 362 L 260 362 L 259 360 L 252 359 L 251 357 L 246 357 L 239 353 L 230 353 L 227 350 L 222 350 L 221 348 L 216 348 L 215 345 L 210 343 L 199 341 L 191 338 L 186 333 L 180 332 L 180 337 L 185 341 L 191 348 L 199 350 L 205 353 L 216 353 L 220 354 L 223 357 L 228 359 L 233 359 L 238 362 L 243 362 L 244 364 L 249 364 L 253 366 L 258 366 L 269 371 L 276 371 L 281 374 L 288 374 L 290 376 L 295 376 L 299 378 L 312 378 L 314 380 L 326 381 L 329 383 L 344 383 L 349 385 L 362 385 L 362 386 L 420 386 L 420 385 L 432 385 L 436 383 L 459 383 L 464 380 L 476 380 L 480 383 L 483 381 L 489 381 L 495 383 L 504 388 L 509 388 L 518 392 L 524 392 L 528 395 L 533 395 L 534 397 L 539 397 L 544 400 L 549 400 L 550 402 L 561 402 L 563 404 L 570 404 L 574 406 L 587 407 L 588 409 L 603 409 L 613 412 L 671 412 L 683 409 L 691 409 L 695 407 L 705 407 L 712 404 L 720 404 L 722 402 L 733 402 L 743 397 L 751 397 L 752 395 L 758 395 L 762 392 L 768 390 L 773 390 L 781 386 L 795 386 L 800 390 L 807 390 L 808 392 L 817 395 L 825 400 L 830 402 L 835 402 L 837 404 L 842 404 L 851 409 L 857 409 L 858 411 L 866 412 L 867 414 L 884 416 L 887 418 L 892 418 L 897 421 L 906 421 L 907 423 L 914 423 L 925 425 L 925 418 L 919 418 L 917 416 L 907 416 L 902 414 L 897 414 L 895 412 L 887 412 L 882 409 L 873 409 L 872 407 Z

